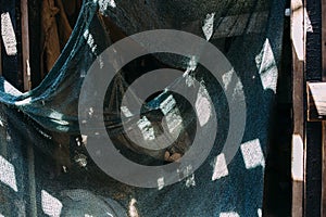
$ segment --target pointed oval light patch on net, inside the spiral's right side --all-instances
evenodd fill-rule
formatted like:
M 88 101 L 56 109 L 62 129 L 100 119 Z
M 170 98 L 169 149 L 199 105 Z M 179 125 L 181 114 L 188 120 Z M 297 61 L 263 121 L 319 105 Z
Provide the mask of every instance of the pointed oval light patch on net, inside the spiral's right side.
M 204 126 L 211 117 L 211 103 L 206 95 L 204 87 L 201 86 L 195 103 L 200 126 Z

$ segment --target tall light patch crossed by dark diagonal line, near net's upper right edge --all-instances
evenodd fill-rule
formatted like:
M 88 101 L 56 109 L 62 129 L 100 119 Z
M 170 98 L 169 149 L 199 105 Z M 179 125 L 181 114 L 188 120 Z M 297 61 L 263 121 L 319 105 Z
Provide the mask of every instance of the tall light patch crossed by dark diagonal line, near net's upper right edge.
M 259 74 L 262 80 L 262 86 L 264 90 L 271 89 L 275 93 L 278 72 L 268 39 L 266 39 L 260 55 L 261 58 L 256 59 L 261 59 L 261 63 L 259 65 Z

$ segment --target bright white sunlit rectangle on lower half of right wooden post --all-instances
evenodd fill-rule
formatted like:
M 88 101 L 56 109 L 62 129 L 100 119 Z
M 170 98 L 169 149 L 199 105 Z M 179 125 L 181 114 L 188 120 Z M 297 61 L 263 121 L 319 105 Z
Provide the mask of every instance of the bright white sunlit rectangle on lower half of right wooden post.
M 303 141 L 300 135 L 292 136 L 292 179 L 303 181 Z

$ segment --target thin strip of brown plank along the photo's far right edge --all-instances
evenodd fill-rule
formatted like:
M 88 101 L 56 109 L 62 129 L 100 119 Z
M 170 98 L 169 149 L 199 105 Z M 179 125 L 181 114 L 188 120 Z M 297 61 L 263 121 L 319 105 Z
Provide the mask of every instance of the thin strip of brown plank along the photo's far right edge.
M 326 82 L 326 0 L 322 0 L 322 79 Z M 322 208 L 321 216 L 326 216 L 326 122 L 322 123 Z

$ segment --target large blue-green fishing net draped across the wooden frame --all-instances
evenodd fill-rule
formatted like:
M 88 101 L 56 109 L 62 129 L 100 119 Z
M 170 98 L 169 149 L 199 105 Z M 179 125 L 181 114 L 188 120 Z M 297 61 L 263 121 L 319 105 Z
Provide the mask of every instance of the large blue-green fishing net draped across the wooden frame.
M 284 7 L 283 1 L 274 0 L 85 0 L 67 43 L 38 87 L 22 93 L 1 78 L 0 214 L 261 216 L 271 114 L 281 58 Z M 82 111 L 82 117 L 104 117 L 108 135 L 125 157 L 149 166 L 177 162 L 190 149 L 197 123 L 217 119 L 214 146 L 196 171 L 190 169 L 177 183 L 164 186 L 158 181 L 158 188 L 146 189 L 113 179 L 92 161 L 86 149 L 89 138 L 79 131 L 78 102 L 84 100 L 79 98 L 80 89 L 89 68 L 105 63 L 101 53 L 106 48 L 127 36 L 153 29 L 184 30 L 218 48 L 241 80 L 247 122 L 240 148 L 226 164 L 222 150 L 230 108 L 221 85 L 230 85 L 228 88 L 236 92 L 239 87 L 230 81 L 233 77 L 226 76 L 220 84 L 203 65 L 197 64 L 197 59 L 171 53 L 147 54 L 127 63 L 113 76 L 104 102 L 99 102 L 103 114 L 91 107 Z M 167 79 L 165 89 L 147 99 L 140 99 L 141 93 L 136 91 L 128 99 L 130 106 L 122 103 L 131 84 L 162 67 L 184 73 L 174 80 Z M 158 77 L 158 84 L 164 84 L 164 79 Z M 191 85 L 193 80 L 200 84 L 197 88 Z M 203 111 L 198 117 L 197 108 L 172 91 L 174 88 L 190 93 L 195 89 L 193 98 L 200 103 L 210 99 L 215 115 Z M 137 103 L 140 111 L 131 108 Z M 164 149 L 152 139 L 164 135 L 162 119 L 170 129 L 163 140 L 171 142 L 176 138 Z

